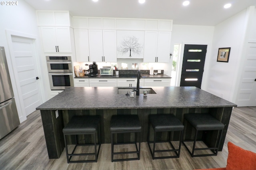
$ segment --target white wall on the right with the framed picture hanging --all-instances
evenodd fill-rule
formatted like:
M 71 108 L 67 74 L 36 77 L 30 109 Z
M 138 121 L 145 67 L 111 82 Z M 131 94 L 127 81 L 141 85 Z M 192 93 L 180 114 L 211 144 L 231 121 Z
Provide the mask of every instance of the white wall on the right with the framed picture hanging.
M 206 91 L 233 101 L 246 30 L 246 10 L 215 26 Z M 218 48 L 231 47 L 228 63 L 217 62 Z M 236 94 L 235 94 L 236 95 Z

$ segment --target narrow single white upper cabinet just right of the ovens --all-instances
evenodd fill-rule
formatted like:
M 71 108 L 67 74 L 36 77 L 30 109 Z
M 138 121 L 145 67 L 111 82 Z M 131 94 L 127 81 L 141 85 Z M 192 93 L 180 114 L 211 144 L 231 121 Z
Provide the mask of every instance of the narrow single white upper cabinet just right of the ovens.
M 74 29 L 76 62 L 90 62 L 88 30 Z

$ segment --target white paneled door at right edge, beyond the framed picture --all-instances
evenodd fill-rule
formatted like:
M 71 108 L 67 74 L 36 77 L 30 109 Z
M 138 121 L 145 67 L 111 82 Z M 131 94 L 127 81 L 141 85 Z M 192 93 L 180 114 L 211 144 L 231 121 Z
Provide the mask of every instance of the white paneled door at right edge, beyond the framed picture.
M 256 106 L 256 41 L 248 43 L 236 104 L 239 107 Z

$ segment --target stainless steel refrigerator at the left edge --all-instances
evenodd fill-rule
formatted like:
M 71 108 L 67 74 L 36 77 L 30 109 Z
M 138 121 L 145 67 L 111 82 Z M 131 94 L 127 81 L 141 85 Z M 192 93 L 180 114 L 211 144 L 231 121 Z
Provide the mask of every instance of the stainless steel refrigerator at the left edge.
M 0 47 L 0 139 L 20 125 L 4 47 Z

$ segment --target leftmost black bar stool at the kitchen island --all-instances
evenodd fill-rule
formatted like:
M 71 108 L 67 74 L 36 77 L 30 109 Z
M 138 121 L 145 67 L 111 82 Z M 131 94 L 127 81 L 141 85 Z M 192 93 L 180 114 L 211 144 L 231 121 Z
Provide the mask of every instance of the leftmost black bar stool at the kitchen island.
M 68 163 L 78 163 L 78 162 L 97 162 L 98 155 L 100 151 L 100 116 L 74 116 L 68 124 L 63 128 L 63 134 L 64 134 L 64 142 L 65 142 L 65 148 L 66 148 L 66 156 Z M 96 143 L 96 132 L 98 134 L 98 144 Z M 78 134 L 92 134 L 92 137 L 94 138 L 94 144 L 78 144 L 77 142 L 77 136 L 75 136 L 75 142 L 76 146 L 74 147 L 71 154 L 68 153 L 68 145 L 66 142 L 66 136 L 67 135 L 78 135 Z M 75 154 L 75 150 L 77 146 L 93 146 L 94 145 L 94 153 L 79 153 Z M 97 145 L 99 146 L 98 152 L 97 152 Z M 74 160 L 72 161 L 71 158 L 73 156 L 95 156 L 94 160 Z

